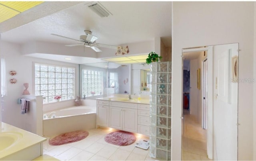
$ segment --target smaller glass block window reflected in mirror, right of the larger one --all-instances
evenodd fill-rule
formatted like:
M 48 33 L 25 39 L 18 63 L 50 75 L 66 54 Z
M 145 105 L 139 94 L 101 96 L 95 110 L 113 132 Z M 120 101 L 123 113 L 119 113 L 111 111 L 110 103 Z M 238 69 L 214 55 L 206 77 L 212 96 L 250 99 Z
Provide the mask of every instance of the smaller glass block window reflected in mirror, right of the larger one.
M 103 94 L 103 72 L 82 70 L 82 95 L 97 96 Z

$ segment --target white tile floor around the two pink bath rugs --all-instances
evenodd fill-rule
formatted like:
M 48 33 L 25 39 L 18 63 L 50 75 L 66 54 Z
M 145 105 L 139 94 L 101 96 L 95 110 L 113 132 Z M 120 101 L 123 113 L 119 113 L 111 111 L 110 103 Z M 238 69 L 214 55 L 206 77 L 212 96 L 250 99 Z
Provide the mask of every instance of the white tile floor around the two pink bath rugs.
M 128 146 L 117 146 L 104 141 L 104 136 L 112 129 L 97 128 L 89 130 L 89 136 L 81 141 L 52 146 L 48 140 L 44 142 L 44 154 L 50 155 L 62 161 L 64 160 L 82 160 L 82 161 L 151 161 L 156 160 L 149 156 L 149 149 L 144 150 L 135 147 L 139 139 L 149 140 L 148 137 L 136 134 L 137 140 Z M 49 139 L 49 138 L 48 138 Z

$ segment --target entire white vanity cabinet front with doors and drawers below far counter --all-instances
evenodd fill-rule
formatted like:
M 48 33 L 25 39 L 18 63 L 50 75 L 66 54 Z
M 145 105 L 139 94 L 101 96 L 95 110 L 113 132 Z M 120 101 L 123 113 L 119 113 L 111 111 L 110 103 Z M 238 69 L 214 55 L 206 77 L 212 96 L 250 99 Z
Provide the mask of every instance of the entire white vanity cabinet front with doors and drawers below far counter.
M 149 104 L 97 100 L 97 125 L 149 136 Z

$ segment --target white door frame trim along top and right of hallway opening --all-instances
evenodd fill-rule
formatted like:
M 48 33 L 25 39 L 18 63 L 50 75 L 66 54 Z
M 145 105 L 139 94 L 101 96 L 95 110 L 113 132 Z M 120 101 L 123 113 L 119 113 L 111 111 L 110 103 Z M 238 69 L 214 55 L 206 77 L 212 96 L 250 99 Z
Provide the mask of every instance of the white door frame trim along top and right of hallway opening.
M 208 61 L 207 155 L 209 159 L 213 159 L 213 46 L 192 48 L 192 49 L 182 49 L 182 54 L 188 53 L 188 52 L 196 52 L 196 51 L 207 51 L 207 61 Z M 183 106 L 183 102 L 182 102 L 182 106 Z

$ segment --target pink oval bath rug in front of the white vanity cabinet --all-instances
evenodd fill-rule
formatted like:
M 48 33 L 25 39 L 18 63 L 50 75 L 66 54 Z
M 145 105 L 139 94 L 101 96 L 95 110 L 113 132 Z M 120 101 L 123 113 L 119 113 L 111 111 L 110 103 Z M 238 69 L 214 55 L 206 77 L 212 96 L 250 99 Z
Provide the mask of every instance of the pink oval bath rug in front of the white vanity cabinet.
M 114 145 L 126 146 L 136 141 L 134 134 L 124 131 L 111 132 L 104 137 L 105 141 Z

